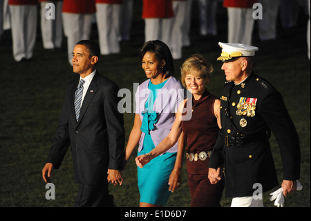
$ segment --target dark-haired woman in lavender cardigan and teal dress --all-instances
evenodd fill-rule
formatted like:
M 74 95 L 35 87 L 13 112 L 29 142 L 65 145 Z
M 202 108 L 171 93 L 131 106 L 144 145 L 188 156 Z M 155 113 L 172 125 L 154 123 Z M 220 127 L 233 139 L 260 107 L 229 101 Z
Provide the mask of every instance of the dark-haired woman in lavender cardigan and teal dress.
M 142 82 L 135 94 L 135 119 L 126 145 L 126 161 L 137 145 L 138 156 L 147 154 L 169 134 L 178 105 L 184 100 L 185 91 L 173 77 L 173 58 L 164 42 L 146 42 L 140 50 L 140 59 L 148 80 Z M 169 190 L 178 182 L 173 179 L 177 177 L 173 170 L 177 150 L 178 142 L 148 166 L 138 168 L 140 207 L 167 204 Z

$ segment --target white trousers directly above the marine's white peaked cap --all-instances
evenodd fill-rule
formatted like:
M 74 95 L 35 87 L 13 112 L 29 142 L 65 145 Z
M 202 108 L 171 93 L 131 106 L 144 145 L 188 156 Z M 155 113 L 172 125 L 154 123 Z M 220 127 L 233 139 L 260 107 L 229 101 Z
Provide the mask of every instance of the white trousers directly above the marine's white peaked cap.
M 228 42 L 252 44 L 254 19 L 252 8 L 227 8 Z

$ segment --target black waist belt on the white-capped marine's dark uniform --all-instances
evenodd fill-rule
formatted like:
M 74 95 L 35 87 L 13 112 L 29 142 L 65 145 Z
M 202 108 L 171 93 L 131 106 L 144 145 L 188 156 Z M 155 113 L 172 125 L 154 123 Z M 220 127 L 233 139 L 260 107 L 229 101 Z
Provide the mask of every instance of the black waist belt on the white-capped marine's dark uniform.
M 225 145 L 227 147 L 242 144 L 245 145 L 258 141 L 266 141 L 267 139 L 267 132 L 255 134 L 254 136 L 225 136 Z

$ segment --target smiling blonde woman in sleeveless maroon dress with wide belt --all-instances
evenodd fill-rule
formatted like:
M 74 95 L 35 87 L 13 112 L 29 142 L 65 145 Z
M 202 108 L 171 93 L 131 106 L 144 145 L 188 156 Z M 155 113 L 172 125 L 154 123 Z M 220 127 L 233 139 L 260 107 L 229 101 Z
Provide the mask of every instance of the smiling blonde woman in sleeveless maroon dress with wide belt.
M 192 55 L 182 64 L 182 84 L 191 92 L 192 100 L 184 100 L 169 135 L 151 152 L 136 158 L 142 167 L 176 143 L 182 133 L 187 146 L 188 184 L 191 193 L 190 206 L 220 206 L 224 181 L 211 185 L 207 178 L 211 150 L 214 148 L 220 128 L 220 100 L 207 91 L 206 85 L 213 67 L 202 55 Z M 187 107 L 188 106 L 188 107 Z M 189 106 L 191 108 L 189 108 Z M 184 113 L 183 113 L 184 112 Z M 191 112 L 191 119 L 182 121 L 182 116 Z M 178 149 L 177 159 L 169 184 L 171 191 L 180 185 L 182 153 Z M 220 171 L 218 171 L 220 173 Z

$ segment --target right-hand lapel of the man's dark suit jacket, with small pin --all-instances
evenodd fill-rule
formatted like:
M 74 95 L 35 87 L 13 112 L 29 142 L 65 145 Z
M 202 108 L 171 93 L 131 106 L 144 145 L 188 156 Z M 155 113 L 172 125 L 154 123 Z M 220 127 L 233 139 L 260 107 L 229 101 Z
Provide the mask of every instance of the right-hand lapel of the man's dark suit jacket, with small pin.
M 99 83 L 99 73 L 95 73 L 93 80 L 91 81 L 90 85 L 88 86 L 88 90 L 86 91 L 86 95 L 84 97 L 82 107 L 80 109 L 80 115 L 79 115 L 79 121 L 77 122 L 77 125 L 82 121 L 82 118 L 86 112 L 86 109 L 88 108 L 88 105 L 91 103 L 91 100 L 93 99 L 94 95 L 96 94 L 96 91 L 98 89 L 97 85 Z M 75 112 L 75 110 L 74 110 Z

